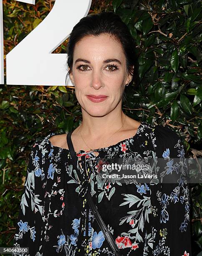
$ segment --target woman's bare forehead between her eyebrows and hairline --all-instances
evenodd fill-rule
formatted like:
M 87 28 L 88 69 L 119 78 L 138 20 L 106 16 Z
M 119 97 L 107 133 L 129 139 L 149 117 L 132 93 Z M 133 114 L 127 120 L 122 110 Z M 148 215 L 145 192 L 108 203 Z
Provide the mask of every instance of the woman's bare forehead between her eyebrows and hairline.
M 121 43 L 109 34 L 85 36 L 74 48 L 73 59 L 82 58 L 104 60 L 108 57 L 124 60 L 125 54 Z

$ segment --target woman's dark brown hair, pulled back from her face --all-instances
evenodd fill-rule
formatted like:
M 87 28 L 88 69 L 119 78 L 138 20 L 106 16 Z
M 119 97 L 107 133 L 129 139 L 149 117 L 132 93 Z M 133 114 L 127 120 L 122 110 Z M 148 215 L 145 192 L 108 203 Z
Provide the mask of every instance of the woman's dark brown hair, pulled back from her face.
M 70 68 L 66 75 L 66 80 L 68 74 L 72 71 L 73 52 L 76 43 L 85 36 L 99 36 L 101 34 L 110 34 L 121 43 L 126 56 L 127 71 L 133 76 L 129 85 L 133 82 L 137 84 L 139 82 L 139 66 L 137 56 L 134 51 L 134 38 L 131 36 L 129 28 L 121 20 L 119 15 L 111 12 L 89 14 L 86 17 L 81 18 L 81 20 L 73 27 L 66 50 L 67 66 Z

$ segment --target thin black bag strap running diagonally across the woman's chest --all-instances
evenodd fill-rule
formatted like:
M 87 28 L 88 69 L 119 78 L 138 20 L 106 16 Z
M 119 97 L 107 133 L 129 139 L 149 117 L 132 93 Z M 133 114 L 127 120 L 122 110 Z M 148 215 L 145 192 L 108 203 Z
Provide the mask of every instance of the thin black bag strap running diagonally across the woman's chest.
M 71 133 L 72 133 L 72 131 L 67 134 L 67 144 L 68 144 L 68 149 L 70 151 L 70 154 L 71 154 L 71 157 L 72 157 L 72 160 L 73 160 L 74 168 L 76 170 L 78 170 L 78 168 L 77 168 L 77 159 L 76 159 L 77 156 L 76 156 L 76 153 L 75 153 L 74 148 L 73 148 L 73 143 L 71 141 Z M 78 175 L 79 175 L 79 172 L 78 172 Z M 112 250 L 114 251 L 115 255 L 116 256 L 123 256 L 121 254 L 119 248 L 117 247 L 114 239 L 111 237 L 111 234 L 110 234 L 109 230 L 106 228 L 106 225 L 105 225 L 104 221 L 102 220 L 102 218 L 101 218 L 101 216 L 100 216 L 100 214 L 99 214 L 99 212 L 98 212 L 98 210 L 97 210 L 97 208 L 94 204 L 94 201 L 93 201 L 92 196 L 91 196 L 91 189 L 89 189 L 90 186 L 91 185 L 88 182 L 88 189 L 87 189 L 87 192 L 86 192 L 86 199 L 87 199 L 88 205 L 91 207 L 91 211 L 93 212 L 93 214 L 94 214 L 94 216 L 97 220 L 98 225 L 100 226 L 104 236 L 106 237 L 106 239 L 107 239 L 109 245 L 111 246 Z

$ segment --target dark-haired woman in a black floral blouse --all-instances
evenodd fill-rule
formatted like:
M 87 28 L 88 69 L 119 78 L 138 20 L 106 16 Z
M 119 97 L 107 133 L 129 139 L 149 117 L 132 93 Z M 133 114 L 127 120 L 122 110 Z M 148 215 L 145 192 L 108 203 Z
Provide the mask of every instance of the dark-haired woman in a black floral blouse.
M 125 86 L 137 76 L 127 26 L 113 13 L 88 15 L 73 28 L 67 52 L 83 118 L 71 133 L 79 175 L 91 182 L 93 201 L 117 247 L 127 256 L 191 256 L 190 190 L 182 141 L 167 126 L 133 120 L 121 109 Z M 101 179 L 108 159 L 127 162 L 131 157 L 161 159 L 164 166 L 148 169 L 148 174 L 157 175 L 148 183 Z M 169 179 L 172 182 L 166 183 Z M 82 186 L 67 134 L 51 133 L 35 143 L 15 246 L 29 247 L 30 256 L 115 255 Z

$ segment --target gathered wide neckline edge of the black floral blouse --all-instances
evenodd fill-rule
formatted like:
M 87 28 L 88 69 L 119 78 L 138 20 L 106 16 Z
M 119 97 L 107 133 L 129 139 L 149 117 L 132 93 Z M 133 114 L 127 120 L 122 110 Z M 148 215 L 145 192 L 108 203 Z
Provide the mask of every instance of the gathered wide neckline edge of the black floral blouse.
M 81 149 L 81 150 L 78 151 L 78 153 L 76 153 L 76 152 L 75 152 L 75 153 L 76 153 L 76 155 L 78 155 L 78 154 L 89 154 L 90 152 L 94 152 L 94 151 L 97 151 L 97 152 L 98 152 L 98 151 L 103 151 L 103 150 L 106 150 L 106 149 L 109 149 L 109 148 L 116 147 L 116 146 L 118 146 L 120 143 L 125 143 L 125 142 L 127 142 L 127 141 L 130 141 L 131 139 L 136 138 L 136 137 L 138 136 L 138 134 L 139 134 L 139 131 L 140 131 L 142 125 L 144 125 L 144 124 L 146 124 L 145 121 L 142 121 L 142 122 L 140 123 L 140 125 L 139 125 L 139 127 L 137 128 L 137 131 L 136 131 L 136 133 L 134 134 L 134 136 L 132 136 L 132 137 L 130 137 L 130 138 L 126 138 L 126 139 L 124 139 L 124 140 L 122 140 L 122 141 L 119 141 L 119 142 L 117 142 L 116 144 L 113 144 L 113 145 L 110 145 L 110 146 L 104 147 L 104 148 L 96 148 L 96 149 L 93 149 L 92 151 L 83 151 L 83 150 Z M 52 132 L 52 133 L 49 133 L 48 136 L 46 137 L 47 140 L 48 140 L 48 143 L 51 145 L 52 148 L 57 148 L 57 149 L 60 149 L 60 150 L 68 151 L 68 152 L 69 152 L 69 149 L 68 149 L 68 148 L 61 148 L 61 147 L 58 147 L 58 146 L 54 146 L 54 145 L 51 143 L 51 141 L 50 141 L 50 137 L 52 137 L 52 136 L 54 136 L 54 135 L 61 135 L 61 134 L 64 134 L 64 133 L 59 133 L 59 132 Z M 66 135 L 67 135 L 67 133 L 66 133 Z

